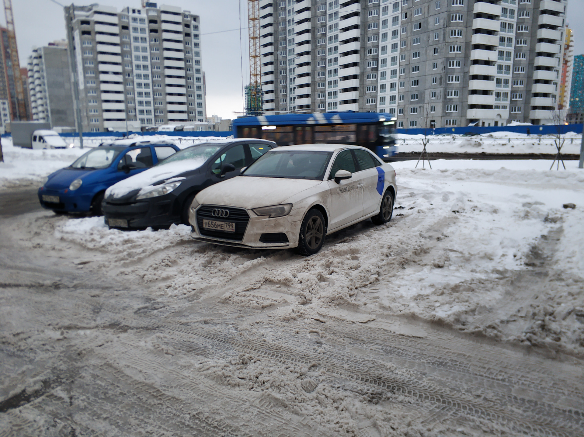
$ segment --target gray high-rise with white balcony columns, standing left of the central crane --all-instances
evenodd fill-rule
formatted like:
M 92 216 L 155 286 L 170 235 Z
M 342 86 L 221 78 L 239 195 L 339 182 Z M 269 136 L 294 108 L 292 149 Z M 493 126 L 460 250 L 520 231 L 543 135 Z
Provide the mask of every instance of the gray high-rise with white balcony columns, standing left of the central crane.
M 199 16 L 144 5 L 65 7 L 84 130 L 206 120 Z

